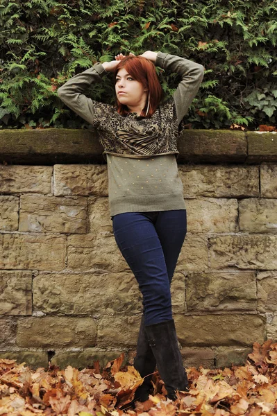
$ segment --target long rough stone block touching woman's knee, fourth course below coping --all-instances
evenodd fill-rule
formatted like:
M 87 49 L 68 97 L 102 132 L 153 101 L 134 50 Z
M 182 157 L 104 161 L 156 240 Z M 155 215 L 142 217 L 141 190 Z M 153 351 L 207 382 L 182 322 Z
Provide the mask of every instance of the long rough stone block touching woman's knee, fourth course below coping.
M 132 272 L 40 273 L 33 280 L 33 305 L 65 315 L 139 313 L 142 295 Z

